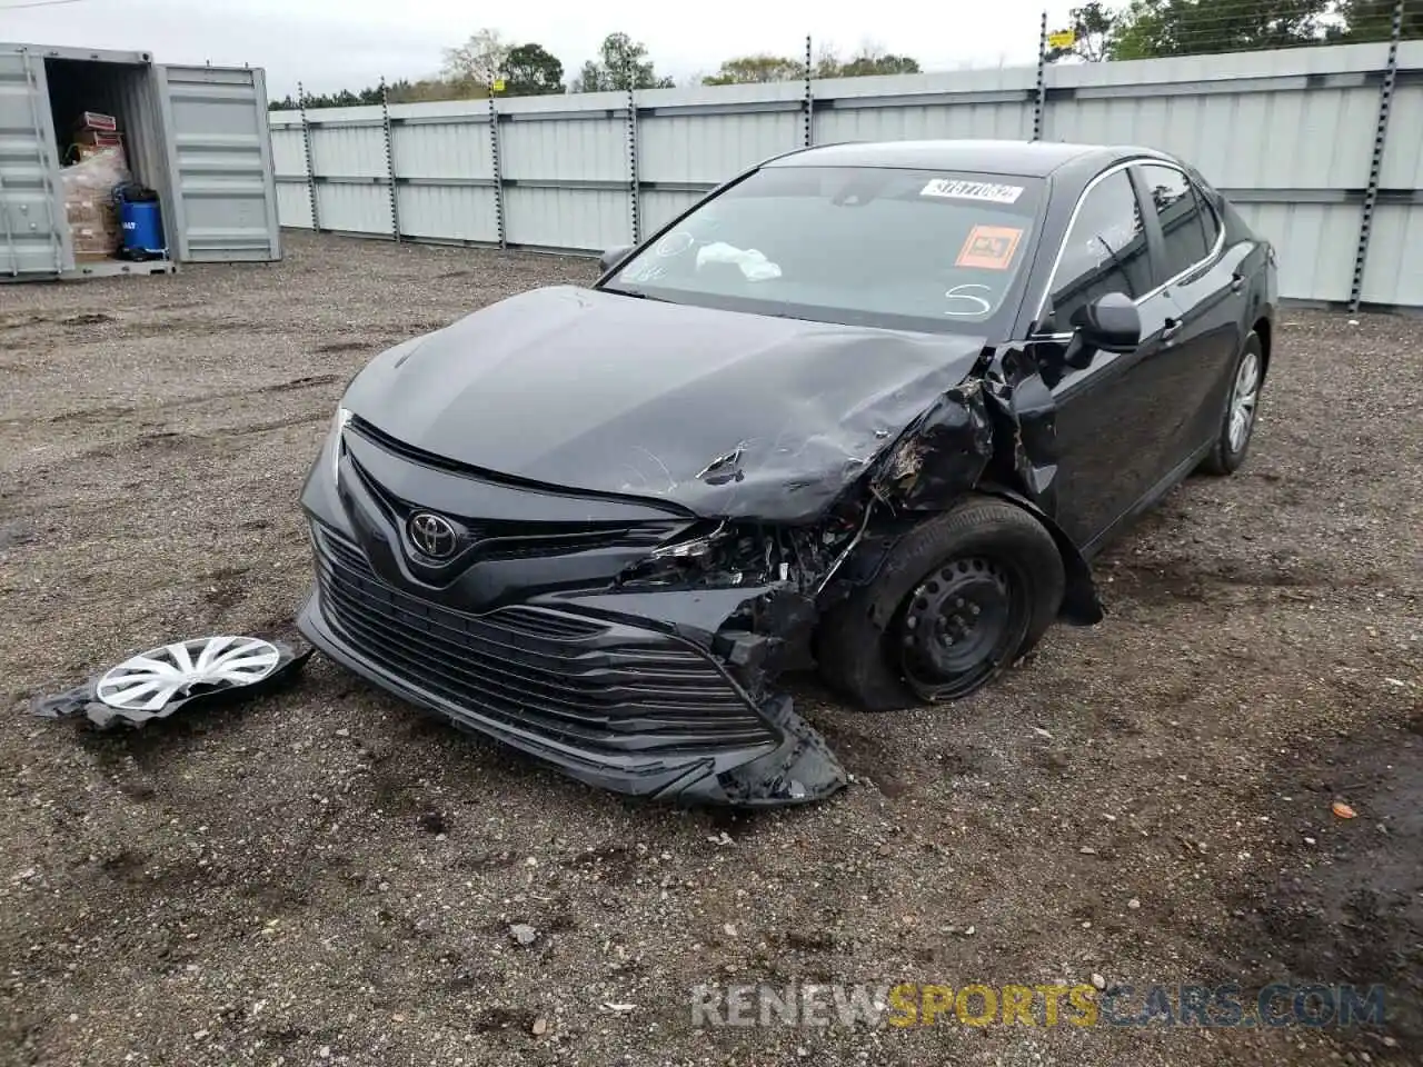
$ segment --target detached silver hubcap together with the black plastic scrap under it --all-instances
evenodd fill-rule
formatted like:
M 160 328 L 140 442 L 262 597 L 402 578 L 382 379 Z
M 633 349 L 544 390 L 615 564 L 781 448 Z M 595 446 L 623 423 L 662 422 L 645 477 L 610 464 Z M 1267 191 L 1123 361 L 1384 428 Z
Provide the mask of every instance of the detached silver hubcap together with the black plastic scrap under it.
M 222 663 L 223 652 L 233 650 L 248 662 Z M 174 642 L 132 656 L 81 686 L 36 697 L 30 711 L 41 718 L 84 717 L 98 730 L 141 727 L 189 706 L 249 700 L 268 693 L 290 680 L 312 652 L 310 647 L 297 650 L 285 642 L 260 637 L 213 636 Z M 139 689 L 148 691 L 135 693 Z M 132 699 L 125 699 L 127 694 Z

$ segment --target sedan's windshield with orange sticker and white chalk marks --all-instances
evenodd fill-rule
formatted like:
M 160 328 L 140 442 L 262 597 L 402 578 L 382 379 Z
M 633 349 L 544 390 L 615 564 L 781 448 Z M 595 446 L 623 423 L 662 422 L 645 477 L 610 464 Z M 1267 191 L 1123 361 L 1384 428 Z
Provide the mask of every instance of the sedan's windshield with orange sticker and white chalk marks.
M 830 323 L 1000 331 L 1020 296 L 1042 185 L 767 166 L 639 249 L 603 289 Z

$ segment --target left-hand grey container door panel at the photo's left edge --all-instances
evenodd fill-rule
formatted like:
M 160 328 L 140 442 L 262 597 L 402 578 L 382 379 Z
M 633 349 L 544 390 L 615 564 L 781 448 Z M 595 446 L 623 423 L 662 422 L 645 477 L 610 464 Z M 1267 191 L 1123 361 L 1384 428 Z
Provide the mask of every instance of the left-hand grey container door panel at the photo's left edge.
M 73 266 L 44 61 L 0 46 L 0 279 Z

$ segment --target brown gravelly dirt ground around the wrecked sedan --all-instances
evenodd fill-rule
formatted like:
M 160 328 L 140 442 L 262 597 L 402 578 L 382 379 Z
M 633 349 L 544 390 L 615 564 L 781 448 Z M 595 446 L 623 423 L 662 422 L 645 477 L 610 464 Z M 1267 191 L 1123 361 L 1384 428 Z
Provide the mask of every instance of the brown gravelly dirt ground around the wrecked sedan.
M 884 718 L 798 686 L 855 777 L 820 807 L 630 804 L 320 657 L 141 734 L 28 714 L 175 637 L 290 633 L 350 376 L 591 277 L 295 235 L 273 266 L 0 287 L 0 1063 L 1423 1061 L 1417 320 L 1286 310 L 1245 468 L 1171 494 L 1099 562 L 1109 619 L 990 691 Z M 696 983 L 1094 975 L 1385 983 L 1387 1023 L 690 1012 Z

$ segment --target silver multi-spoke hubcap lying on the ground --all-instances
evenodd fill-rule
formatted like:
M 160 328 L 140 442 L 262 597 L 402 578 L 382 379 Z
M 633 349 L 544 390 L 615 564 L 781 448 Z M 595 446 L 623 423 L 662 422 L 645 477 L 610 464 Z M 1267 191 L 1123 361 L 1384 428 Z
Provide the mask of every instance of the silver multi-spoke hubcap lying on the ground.
M 280 659 L 276 646 L 258 637 L 198 637 L 124 660 L 98 680 L 95 694 L 110 707 L 157 711 L 195 689 L 250 686 Z

